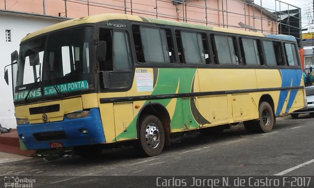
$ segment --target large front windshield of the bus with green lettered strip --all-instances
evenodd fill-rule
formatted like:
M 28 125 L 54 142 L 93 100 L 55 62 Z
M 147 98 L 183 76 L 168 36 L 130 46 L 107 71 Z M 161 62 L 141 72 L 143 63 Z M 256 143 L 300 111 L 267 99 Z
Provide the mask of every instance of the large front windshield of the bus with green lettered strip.
M 92 89 L 93 27 L 57 31 L 21 44 L 14 101 Z

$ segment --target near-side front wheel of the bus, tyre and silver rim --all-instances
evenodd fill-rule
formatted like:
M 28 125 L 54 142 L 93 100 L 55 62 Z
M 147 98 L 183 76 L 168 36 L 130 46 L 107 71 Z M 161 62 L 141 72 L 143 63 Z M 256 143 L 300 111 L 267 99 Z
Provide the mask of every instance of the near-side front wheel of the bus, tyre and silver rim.
M 139 123 L 139 139 L 136 150 L 144 157 L 152 157 L 161 153 L 165 143 L 165 132 L 159 118 L 145 115 Z

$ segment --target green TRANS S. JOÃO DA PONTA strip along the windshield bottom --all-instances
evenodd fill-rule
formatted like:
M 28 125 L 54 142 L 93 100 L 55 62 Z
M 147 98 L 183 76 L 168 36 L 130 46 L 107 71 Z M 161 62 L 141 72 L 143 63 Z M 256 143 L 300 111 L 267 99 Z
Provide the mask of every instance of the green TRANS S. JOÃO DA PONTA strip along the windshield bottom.
M 83 81 L 78 81 L 78 82 L 59 84 L 55 86 L 47 86 L 47 87 L 44 87 L 44 94 L 45 95 L 57 94 L 55 87 L 58 88 L 59 92 L 61 93 L 74 92 L 78 90 L 88 89 L 88 83 L 86 80 L 83 80 Z M 14 101 L 25 99 L 28 91 L 29 90 L 16 92 L 14 94 Z M 36 88 L 36 89 L 31 90 L 31 92 L 29 92 L 27 98 L 36 98 L 36 97 L 41 97 L 41 96 L 42 95 L 41 95 L 40 88 Z

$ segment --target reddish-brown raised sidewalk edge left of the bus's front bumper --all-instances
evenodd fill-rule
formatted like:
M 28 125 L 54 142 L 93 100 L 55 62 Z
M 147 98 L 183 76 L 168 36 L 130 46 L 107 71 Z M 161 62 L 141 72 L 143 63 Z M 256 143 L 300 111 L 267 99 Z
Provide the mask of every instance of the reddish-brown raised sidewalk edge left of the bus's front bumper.
M 16 129 L 11 129 L 9 133 L 0 134 L 0 152 L 24 156 L 31 156 L 36 152 L 36 150 L 21 150 L 20 144 L 22 146 L 21 148 L 25 148 L 23 142 L 19 140 Z

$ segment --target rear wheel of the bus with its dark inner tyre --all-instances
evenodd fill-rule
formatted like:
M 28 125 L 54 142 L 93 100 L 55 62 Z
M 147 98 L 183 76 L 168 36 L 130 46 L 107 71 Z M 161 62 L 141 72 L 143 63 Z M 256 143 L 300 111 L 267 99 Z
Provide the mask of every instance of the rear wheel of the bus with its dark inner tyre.
M 244 127 L 249 133 L 268 133 L 276 123 L 273 110 L 268 102 L 262 102 L 259 107 L 259 120 L 244 121 Z

